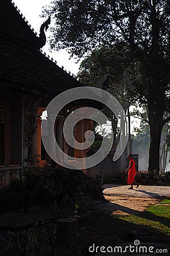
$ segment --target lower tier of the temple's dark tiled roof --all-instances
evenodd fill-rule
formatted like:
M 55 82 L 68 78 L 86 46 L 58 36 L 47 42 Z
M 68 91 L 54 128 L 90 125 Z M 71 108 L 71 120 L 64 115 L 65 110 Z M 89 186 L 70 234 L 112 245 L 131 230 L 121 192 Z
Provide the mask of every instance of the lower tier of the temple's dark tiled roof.
M 24 90 L 63 92 L 82 86 L 40 52 L 0 42 L 0 78 L 18 82 Z

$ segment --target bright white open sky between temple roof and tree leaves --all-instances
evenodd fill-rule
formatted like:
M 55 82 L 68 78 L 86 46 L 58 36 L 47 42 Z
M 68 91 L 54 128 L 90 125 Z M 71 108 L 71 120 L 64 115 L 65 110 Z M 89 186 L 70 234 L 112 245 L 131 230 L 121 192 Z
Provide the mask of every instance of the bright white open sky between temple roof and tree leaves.
M 13 0 L 15 5 L 26 17 L 38 35 L 40 26 L 45 21 L 45 19 L 40 18 L 40 14 L 42 14 L 42 7 L 45 5 L 50 5 L 51 1 L 52 0 Z M 67 51 L 61 50 L 60 52 L 49 52 L 49 45 L 46 43 L 46 45 L 43 47 L 43 52 L 46 52 L 47 55 L 53 57 L 53 59 L 57 61 L 57 65 L 59 65 L 59 67 L 63 66 L 67 71 L 70 71 L 74 75 L 77 74 L 80 63 L 76 64 L 76 60 L 73 58 L 69 60 L 69 54 Z

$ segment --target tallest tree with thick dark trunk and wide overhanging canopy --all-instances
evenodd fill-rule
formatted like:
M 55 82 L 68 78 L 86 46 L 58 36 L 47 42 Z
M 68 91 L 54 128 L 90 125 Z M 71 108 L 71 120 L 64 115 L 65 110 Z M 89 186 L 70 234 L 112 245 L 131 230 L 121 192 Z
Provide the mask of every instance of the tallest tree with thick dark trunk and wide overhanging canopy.
M 81 57 L 102 46 L 125 43 L 131 63 L 139 63 L 142 81 L 134 84 L 150 122 L 150 170 L 159 171 L 161 130 L 169 112 L 169 0 L 56 0 L 44 9 L 53 17 L 51 47 Z M 114 65 L 114 63 L 113 63 Z M 138 90 L 138 88 L 142 90 Z

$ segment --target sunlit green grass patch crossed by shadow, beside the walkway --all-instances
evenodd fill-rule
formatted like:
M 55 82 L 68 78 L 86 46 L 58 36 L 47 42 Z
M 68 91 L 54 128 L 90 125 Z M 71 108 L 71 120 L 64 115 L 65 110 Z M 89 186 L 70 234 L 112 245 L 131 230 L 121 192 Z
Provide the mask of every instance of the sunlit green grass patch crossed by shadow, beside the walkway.
M 166 202 L 167 200 L 163 200 Z M 139 213 L 138 215 L 114 215 L 113 217 L 119 220 L 126 221 L 131 224 L 140 225 L 146 227 L 148 231 L 153 228 L 155 231 L 159 231 L 163 234 L 170 236 L 170 205 L 152 205 L 148 207 L 145 212 Z

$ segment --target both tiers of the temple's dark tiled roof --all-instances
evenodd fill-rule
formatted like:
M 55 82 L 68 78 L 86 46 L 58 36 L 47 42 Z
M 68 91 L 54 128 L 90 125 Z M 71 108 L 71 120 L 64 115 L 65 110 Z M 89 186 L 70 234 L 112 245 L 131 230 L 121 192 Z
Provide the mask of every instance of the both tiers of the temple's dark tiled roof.
M 22 39 L 34 43 L 37 37 L 10 0 L 0 0 L 0 17 L 1 81 L 15 82 L 21 90 L 48 95 L 82 86 L 40 51 L 20 44 Z M 12 40 L 13 36 L 18 37 L 18 42 Z

